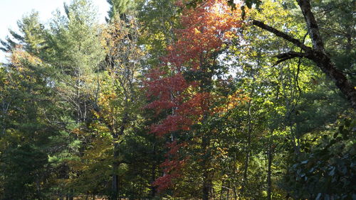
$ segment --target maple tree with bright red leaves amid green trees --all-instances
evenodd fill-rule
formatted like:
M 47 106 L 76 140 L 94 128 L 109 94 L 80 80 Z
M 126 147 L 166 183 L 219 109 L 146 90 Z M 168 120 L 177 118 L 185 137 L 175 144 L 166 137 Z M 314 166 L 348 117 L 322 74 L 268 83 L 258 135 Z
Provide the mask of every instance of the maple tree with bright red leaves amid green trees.
M 179 1 L 177 4 L 183 3 Z M 152 125 L 151 133 L 163 136 L 190 130 L 192 125 L 214 113 L 211 102 L 217 96 L 210 88 L 216 73 L 216 52 L 236 37 L 242 25 L 240 15 L 231 11 L 222 0 L 209 0 L 196 9 L 183 11 L 183 28 L 175 30 L 177 40 L 168 46 L 167 55 L 162 57 L 169 70 L 158 68 L 147 76 L 147 96 L 156 99 L 152 99 L 146 108 L 157 114 L 170 110 L 166 118 Z M 158 191 L 172 186 L 172 179 L 181 174 L 179 170 L 187 160 L 177 156 L 179 148 L 184 147 L 182 143 L 172 140 L 168 146 L 171 150 L 161 166 L 164 175 L 154 182 Z M 206 144 L 201 148 L 206 148 Z

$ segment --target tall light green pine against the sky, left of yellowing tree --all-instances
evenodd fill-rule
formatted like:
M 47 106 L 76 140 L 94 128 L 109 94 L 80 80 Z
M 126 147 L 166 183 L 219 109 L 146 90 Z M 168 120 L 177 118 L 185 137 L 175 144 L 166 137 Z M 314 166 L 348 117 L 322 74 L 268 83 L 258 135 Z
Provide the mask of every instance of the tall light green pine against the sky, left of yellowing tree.
M 26 76 L 20 74 L 20 77 L 26 77 L 23 82 L 26 83 L 29 94 L 28 97 L 22 96 L 19 99 L 28 98 L 46 104 L 44 108 L 32 106 L 31 111 L 28 111 L 28 113 L 41 113 L 41 115 L 33 114 L 33 119 L 29 123 L 33 127 L 43 127 L 41 132 L 37 131 L 37 134 L 41 133 L 43 143 L 34 143 L 35 147 L 32 145 L 30 147 L 47 150 L 46 167 L 48 170 L 58 170 L 58 173 L 51 174 L 57 181 L 56 184 L 52 183 L 53 193 L 58 192 L 60 197 L 67 195 L 68 198 L 73 198 L 73 188 L 68 188 L 67 183 L 72 178 L 70 174 L 76 172 L 70 169 L 68 163 L 78 158 L 80 151 L 80 140 L 78 135 L 73 133 L 77 128 L 83 129 L 85 123 L 92 120 L 93 113 L 90 109 L 93 108 L 93 104 L 90 102 L 95 96 L 93 91 L 96 85 L 93 83 L 95 79 L 90 80 L 90 78 L 95 77 L 94 72 L 98 72 L 98 65 L 104 57 L 98 37 L 98 26 L 95 23 L 95 13 L 88 1 L 73 1 L 72 4 L 65 5 L 65 11 L 66 16 L 56 13 L 50 30 L 38 22 L 37 13 L 23 18 L 19 22 L 22 33 L 11 32 L 17 41 L 9 39 L 8 43 L 4 42 L 3 45 L 4 50 L 12 52 L 9 67 L 19 66 L 19 69 L 23 68 L 23 72 L 27 73 Z M 87 36 L 82 37 L 81 34 Z M 40 84 L 34 84 L 36 82 L 33 83 L 29 77 L 37 79 L 36 82 Z M 16 85 L 21 87 L 21 82 L 13 82 L 13 84 L 14 87 Z M 41 88 L 40 86 L 48 90 L 38 91 L 43 96 L 37 96 L 36 91 L 32 91 Z M 51 111 L 48 111 L 48 107 Z M 40 122 L 41 118 L 43 123 Z M 18 120 L 19 118 L 13 123 L 18 123 Z M 15 130 L 21 129 L 15 128 Z M 28 128 L 28 133 L 31 131 Z M 36 129 L 33 132 L 36 133 Z M 29 137 L 26 135 L 28 133 L 25 133 L 19 134 L 25 138 Z M 56 143 L 53 140 L 56 140 Z M 53 148 L 52 145 L 55 147 L 54 150 L 48 150 Z M 43 171 L 47 172 L 47 170 Z M 23 172 L 28 173 L 28 170 Z M 38 182 L 44 181 L 40 179 Z

